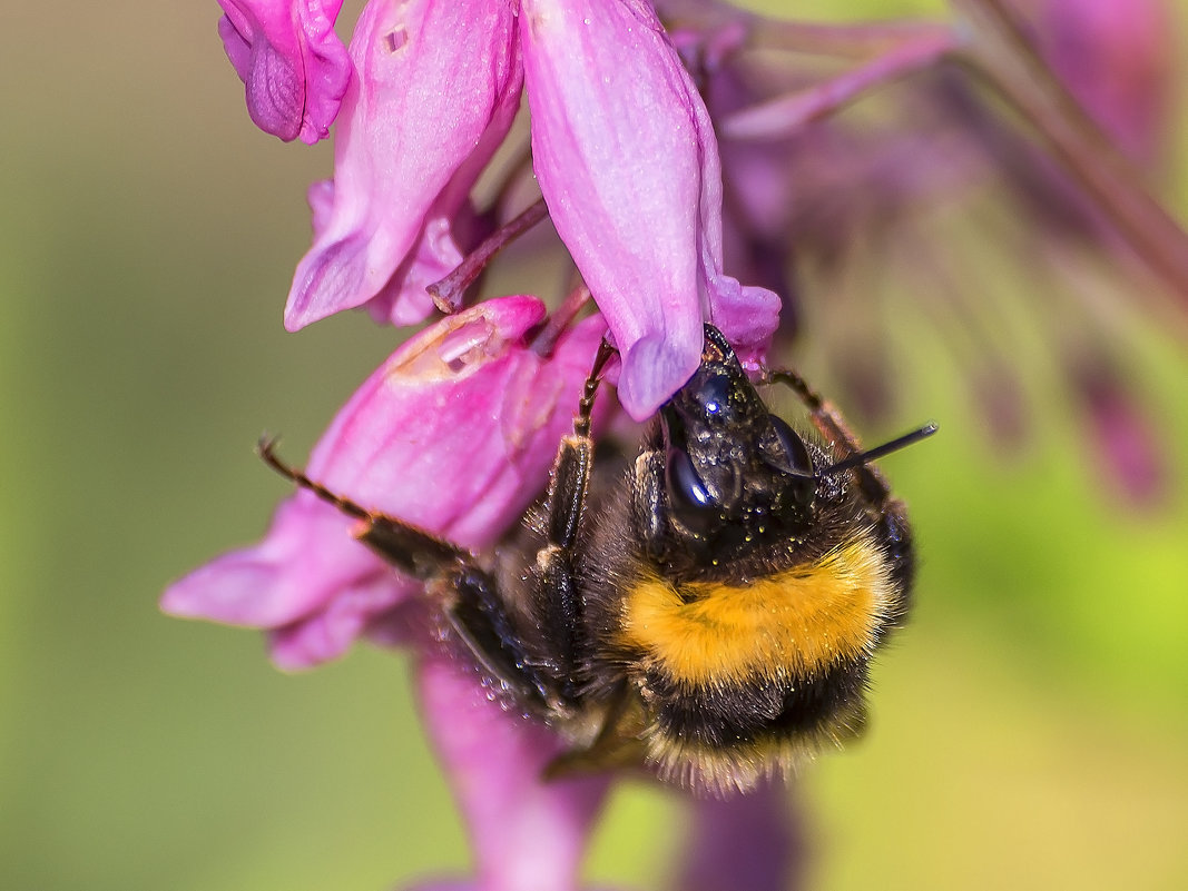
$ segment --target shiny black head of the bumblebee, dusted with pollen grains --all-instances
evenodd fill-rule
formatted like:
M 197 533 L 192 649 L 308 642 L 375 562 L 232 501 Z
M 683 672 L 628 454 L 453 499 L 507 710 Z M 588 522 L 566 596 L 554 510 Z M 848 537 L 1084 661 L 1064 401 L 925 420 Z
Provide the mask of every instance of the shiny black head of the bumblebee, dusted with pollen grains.
M 811 526 L 821 467 L 715 327 L 696 373 L 661 408 L 661 431 L 670 535 L 741 547 Z

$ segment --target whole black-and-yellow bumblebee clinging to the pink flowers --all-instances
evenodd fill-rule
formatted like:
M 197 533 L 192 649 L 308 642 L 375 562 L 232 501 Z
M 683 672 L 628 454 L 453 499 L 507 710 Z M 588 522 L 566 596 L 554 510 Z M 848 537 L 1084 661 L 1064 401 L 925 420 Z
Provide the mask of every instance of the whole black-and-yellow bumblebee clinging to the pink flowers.
M 865 721 L 871 657 L 908 615 L 904 505 L 871 464 L 934 425 L 861 451 L 791 371 L 815 433 L 772 414 L 726 338 L 633 459 L 595 458 L 606 343 L 562 439 L 548 495 L 475 554 L 277 471 L 362 521 L 359 539 L 426 585 L 443 637 L 513 709 L 568 742 L 550 768 L 643 766 L 712 794 L 746 790 Z

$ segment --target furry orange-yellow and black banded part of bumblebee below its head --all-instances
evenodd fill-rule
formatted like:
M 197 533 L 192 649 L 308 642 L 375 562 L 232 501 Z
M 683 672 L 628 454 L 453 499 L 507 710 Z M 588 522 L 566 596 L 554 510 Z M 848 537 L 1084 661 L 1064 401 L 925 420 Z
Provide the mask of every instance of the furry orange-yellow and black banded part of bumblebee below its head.
M 620 644 L 651 715 L 647 760 L 699 788 L 745 788 L 855 736 L 902 594 L 871 535 L 741 583 L 642 577 L 625 591 Z

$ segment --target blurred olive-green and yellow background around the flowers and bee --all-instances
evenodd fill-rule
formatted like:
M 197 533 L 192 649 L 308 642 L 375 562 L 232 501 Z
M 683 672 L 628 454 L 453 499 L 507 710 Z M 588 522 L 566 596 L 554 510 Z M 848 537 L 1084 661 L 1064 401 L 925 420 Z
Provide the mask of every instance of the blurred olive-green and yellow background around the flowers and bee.
M 400 655 L 286 676 L 257 635 L 157 610 L 285 494 L 252 454 L 261 429 L 303 454 L 393 345 L 356 314 L 282 330 L 330 154 L 251 126 L 217 14 L 12 4 L 0 30 L 5 889 L 381 889 L 466 866 Z M 944 429 L 887 470 L 922 541 L 920 610 L 867 739 L 797 789 L 810 886 L 1188 887 L 1184 329 L 1119 326 L 1173 471 L 1137 516 L 1059 401 L 998 460 L 917 322 L 895 427 Z M 592 878 L 658 885 L 681 819 L 621 788 Z

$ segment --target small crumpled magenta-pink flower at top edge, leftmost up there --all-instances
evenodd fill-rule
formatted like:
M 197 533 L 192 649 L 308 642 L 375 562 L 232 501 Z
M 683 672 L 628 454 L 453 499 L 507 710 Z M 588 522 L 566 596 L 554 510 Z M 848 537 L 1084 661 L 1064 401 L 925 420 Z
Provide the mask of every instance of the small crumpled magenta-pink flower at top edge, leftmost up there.
M 219 34 L 247 88 L 247 113 L 265 133 L 324 139 L 350 81 L 334 33 L 342 0 L 219 0 Z

